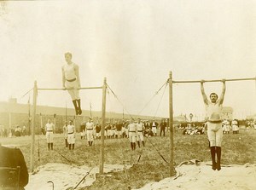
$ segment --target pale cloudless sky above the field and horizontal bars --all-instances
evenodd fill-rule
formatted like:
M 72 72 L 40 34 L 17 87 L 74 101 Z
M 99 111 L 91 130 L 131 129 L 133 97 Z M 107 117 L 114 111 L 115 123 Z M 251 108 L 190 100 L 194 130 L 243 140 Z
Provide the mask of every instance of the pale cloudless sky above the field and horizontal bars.
M 82 87 L 107 78 L 107 111 L 169 116 L 173 80 L 256 77 L 256 1 L 8 1 L 0 4 L 0 101 L 32 99 L 61 88 L 64 53 L 79 65 Z M 255 81 L 226 83 L 236 118 L 256 113 Z M 156 91 L 159 93 L 156 95 Z M 222 83 L 205 83 L 207 95 Z M 201 117 L 200 83 L 175 83 L 174 115 Z M 25 95 L 25 96 L 23 96 Z M 102 90 L 80 90 L 83 109 L 102 109 Z M 39 91 L 38 105 L 73 107 L 67 91 Z

